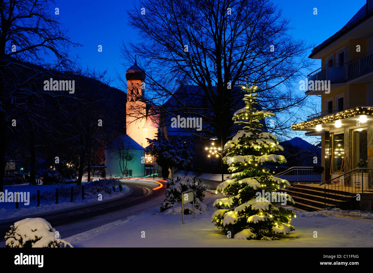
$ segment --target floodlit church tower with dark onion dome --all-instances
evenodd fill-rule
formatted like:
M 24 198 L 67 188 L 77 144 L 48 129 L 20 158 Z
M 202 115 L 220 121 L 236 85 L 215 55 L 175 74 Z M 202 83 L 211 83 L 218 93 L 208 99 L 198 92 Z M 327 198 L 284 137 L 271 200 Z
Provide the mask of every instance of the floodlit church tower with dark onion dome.
M 127 102 L 126 102 L 126 132 L 142 147 L 148 144 L 145 139 L 146 103 L 144 102 L 145 72 L 135 64 L 126 72 Z

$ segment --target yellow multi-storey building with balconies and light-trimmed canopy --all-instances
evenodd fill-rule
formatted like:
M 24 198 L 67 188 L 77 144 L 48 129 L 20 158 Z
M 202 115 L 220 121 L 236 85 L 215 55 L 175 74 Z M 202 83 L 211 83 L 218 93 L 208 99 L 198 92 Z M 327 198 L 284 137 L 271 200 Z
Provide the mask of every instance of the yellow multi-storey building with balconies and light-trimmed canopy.
M 372 1 L 316 46 L 309 58 L 320 59 L 322 66 L 307 76 L 305 94 L 321 95 L 322 112 L 292 125 L 292 129 L 322 137 L 322 182 L 348 172 L 367 171 L 364 181 L 355 182 L 351 177 L 338 179 L 338 183 L 372 187 L 369 170 L 353 171 L 373 168 Z

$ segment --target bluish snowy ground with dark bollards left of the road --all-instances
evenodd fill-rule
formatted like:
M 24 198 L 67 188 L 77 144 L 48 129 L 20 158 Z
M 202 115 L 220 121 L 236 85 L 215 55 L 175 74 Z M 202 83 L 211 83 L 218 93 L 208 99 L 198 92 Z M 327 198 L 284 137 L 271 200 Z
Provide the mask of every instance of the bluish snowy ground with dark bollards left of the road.
M 96 180 L 96 179 L 95 179 Z M 122 181 L 122 180 L 120 180 Z M 128 181 L 128 180 L 126 180 Z M 37 190 L 40 190 L 40 195 L 46 191 L 53 191 L 56 188 L 61 189 L 61 187 L 70 188 L 75 186 L 76 184 L 57 184 L 57 185 L 29 185 L 29 184 L 22 184 L 19 186 L 4 186 L 4 192 L 7 190 L 8 192 L 29 192 L 30 202 L 29 205 L 25 205 L 22 202 L 19 202 L 19 208 L 16 209 L 16 203 L 14 202 L 0 202 L 0 220 L 10 219 L 19 216 L 27 216 L 32 217 L 32 215 L 40 214 L 40 213 L 47 213 L 51 211 L 60 211 L 65 209 L 73 209 L 78 208 L 81 206 L 92 205 L 94 203 L 101 202 L 98 200 L 97 195 L 85 195 L 84 200 L 80 197 L 75 197 L 73 202 L 70 202 L 70 196 L 65 198 L 59 198 L 58 204 L 56 204 L 56 200 L 40 200 L 40 206 L 37 206 L 37 199 L 31 199 L 31 196 L 37 193 Z M 82 183 L 85 187 L 89 186 L 88 182 Z M 117 197 L 123 197 L 129 195 L 132 190 L 123 185 L 122 192 L 116 188 L 116 192 L 102 193 L 102 201 L 110 200 Z M 26 218 L 26 217 L 25 217 Z

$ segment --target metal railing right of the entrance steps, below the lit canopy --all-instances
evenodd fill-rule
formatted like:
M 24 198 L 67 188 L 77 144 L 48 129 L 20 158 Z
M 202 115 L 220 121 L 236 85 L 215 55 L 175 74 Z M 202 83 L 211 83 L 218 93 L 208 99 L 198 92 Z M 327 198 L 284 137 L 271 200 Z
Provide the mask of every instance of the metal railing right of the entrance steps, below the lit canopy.
M 325 208 L 358 192 L 373 193 L 373 168 L 355 168 L 321 183 L 320 186 L 324 186 Z M 327 190 L 334 191 L 326 200 Z

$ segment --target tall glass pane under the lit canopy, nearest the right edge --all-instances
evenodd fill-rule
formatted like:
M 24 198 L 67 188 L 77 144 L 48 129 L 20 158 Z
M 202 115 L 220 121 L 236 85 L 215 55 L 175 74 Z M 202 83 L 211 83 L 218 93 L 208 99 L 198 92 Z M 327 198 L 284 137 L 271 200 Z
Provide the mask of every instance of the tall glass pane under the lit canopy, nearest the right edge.
M 358 131 L 360 130 L 360 131 Z M 367 129 L 354 130 L 352 135 L 352 156 L 354 165 L 352 168 L 367 168 L 368 167 L 368 141 Z

